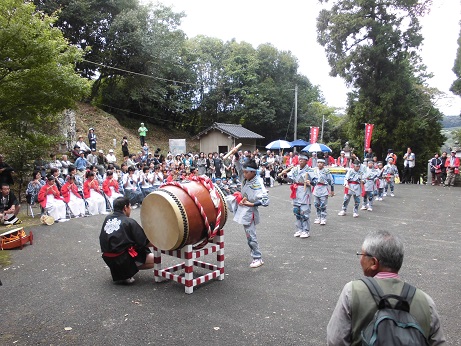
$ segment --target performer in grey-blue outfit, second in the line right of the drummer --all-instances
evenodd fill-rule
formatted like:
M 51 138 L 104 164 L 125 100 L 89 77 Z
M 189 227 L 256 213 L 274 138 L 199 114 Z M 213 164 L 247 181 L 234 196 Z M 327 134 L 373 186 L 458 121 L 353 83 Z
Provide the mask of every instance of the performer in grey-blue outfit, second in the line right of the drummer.
M 314 206 L 316 209 L 314 223 L 324 226 L 327 224 L 328 196 L 333 197 L 335 195 L 333 176 L 330 170 L 325 168 L 324 159 L 317 160 L 317 167 L 314 169 L 313 177 L 315 186 L 312 194 L 314 195 Z

